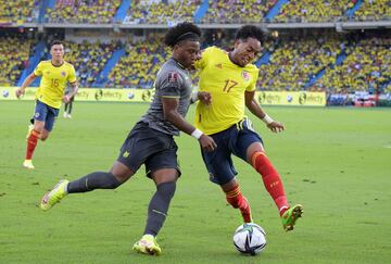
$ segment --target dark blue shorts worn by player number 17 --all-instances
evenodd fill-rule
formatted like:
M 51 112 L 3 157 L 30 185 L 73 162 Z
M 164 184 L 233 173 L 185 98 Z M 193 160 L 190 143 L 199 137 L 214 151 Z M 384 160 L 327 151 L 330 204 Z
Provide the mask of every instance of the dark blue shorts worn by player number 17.
M 210 180 L 218 185 L 227 184 L 238 174 L 234 167 L 231 154 L 247 162 L 247 149 L 250 144 L 263 143 L 248 118 L 210 136 L 217 143 L 217 148 L 212 152 L 203 150 L 201 152 L 210 174 Z

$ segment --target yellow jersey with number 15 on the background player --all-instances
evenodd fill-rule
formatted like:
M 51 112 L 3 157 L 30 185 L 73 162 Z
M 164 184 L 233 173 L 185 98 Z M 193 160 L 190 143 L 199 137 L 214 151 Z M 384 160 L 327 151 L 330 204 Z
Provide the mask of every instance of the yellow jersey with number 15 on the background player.
M 36 99 L 54 109 L 61 106 L 66 83 L 76 81 L 74 66 L 65 61 L 61 66 L 54 66 L 51 61 L 41 61 L 34 70 L 34 75 L 42 76 Z

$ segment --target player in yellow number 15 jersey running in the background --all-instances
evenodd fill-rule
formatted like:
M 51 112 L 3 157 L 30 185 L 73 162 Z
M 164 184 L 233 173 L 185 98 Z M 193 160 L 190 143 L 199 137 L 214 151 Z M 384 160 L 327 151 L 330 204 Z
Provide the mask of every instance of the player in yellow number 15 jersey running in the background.
M 20 98 L 33 80 L 42 76 L 39 88 L 36 92 L 36 106 L 34 113 L 34 126 L 29 126 L 27 135 L 27 151 L 23 166 L 35 168 L 33 165 L 33 153 L 38 143 L 38 139 L 46 140 L 53 128 L 55 117 L 59 115 L 61 102 L 70 102 L 71 98 L 77 93 L 78 85 L 76 81 L 75 68 L 72 64 L 64 61 L 64 45 L 54 40 L 50 45 L 52 59 L 42 61 L 35 68 L 34 73 L 27 76 L 22 86 L 16 90 Z M 64 96 L 66 84 L 70 83 L 73 91 Z

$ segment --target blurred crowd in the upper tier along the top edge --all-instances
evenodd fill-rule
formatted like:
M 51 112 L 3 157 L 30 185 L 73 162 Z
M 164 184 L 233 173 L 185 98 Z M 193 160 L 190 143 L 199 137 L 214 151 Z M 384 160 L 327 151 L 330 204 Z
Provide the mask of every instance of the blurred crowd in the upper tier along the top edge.
M 0 0 L 0 23 L 35 22 L 41 11 L 51 23 L 114 23 L 118 8 L 125 0 L 56 0 L 46 9 L 48 1 Z M 207 12 L 201 23 L 258 23 L 278 0 L 216 0 L 209 1 Z M 171 25 L 179 21 L 193 21 L 203 0 L 134 0 L 126 11 L 124 23 Z M 268 22 L 333 22 L 390 20 L 390 0 L 364 0 L 356 12 L 348 15 L 358 0 L 290 0 Z M 43 10 L 42 10 L 43 7 Z M 41 10 L 40 10 L 41 9 Z

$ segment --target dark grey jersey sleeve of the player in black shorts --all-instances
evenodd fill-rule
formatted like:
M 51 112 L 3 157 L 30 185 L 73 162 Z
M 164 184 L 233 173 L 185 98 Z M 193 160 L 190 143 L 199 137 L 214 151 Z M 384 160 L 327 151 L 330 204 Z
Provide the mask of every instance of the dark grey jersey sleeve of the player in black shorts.
M 167 72 L 159 76 L 159 95 L 165 98 L 179 98 L 181 87 L 181 76 L 178 72 Z

